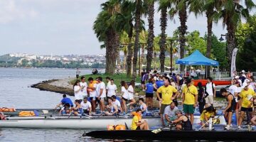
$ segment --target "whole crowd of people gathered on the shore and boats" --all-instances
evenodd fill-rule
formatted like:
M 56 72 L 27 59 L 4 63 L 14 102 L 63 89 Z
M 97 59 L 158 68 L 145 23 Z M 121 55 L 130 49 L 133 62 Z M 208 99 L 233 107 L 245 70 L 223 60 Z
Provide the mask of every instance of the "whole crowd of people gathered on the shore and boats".
M 87 79 L 81 77 L 74 84 L 75 106 L 70 99 L 63 95 L 61 104 L 64 106 L 60 114 L 69 114 L 73 111 L 75 115 L 95 114 L 97 106 L 100 113 L 107 116 L 117 114 L 127 114 L 128 110 L 134 109 L 134 104 L 139 104 L 139 109 L 134 113 L 132 129 L 148 129 L 146 121 L 142 121 L 142 116 L 146 116 L 149 109 L 153 109 L 153 102 L 156 99 L 159 102 L 159 114 L 163 126 L 177 124 L 176 129 L 191 130 L 194 120 L 194 111 L 199 107 L 201 113 L 202 125 L 206 124 L 210 117 L 216 115 L 214 108 L 214 98 L 216 97 L 216 87 L 213 78 L 207 77 L 206 87 L 203 88 L 201 82 L 193 84 L 191 77 L 176 75 L 160 75 L 158 72 L 142 72 L 141 89 L 145 94 L 140 97 L 138 102 L 134 99 L 135 81 L 127 83 L 120 82 L 120 93 L 117 93 L 117 85 L 110 77 L 106 77 L 105 82 L 102 77 L 95 80 L 92 77 Z M 245 113 L 252 118 L 253 101 L 255 98 L 256 83 L 249 73 L 239 76 L 235 75 L 232 85 L 228 89 L 220 89 L 220 94 L 226 97 L 227 107 L 223 110 L 230 129 L 233 113 L 237 116 L 237 125 L 240 128 Z M 119 94 L 119 95 L 117 95 Z M 178 109 L 177 98 L 181 98 L 183 111 Z M 183 115 L 185 114 L 185 115 Z M 135 117 L 136 116 L 136 117 Z M 180 125 L 183 124 L 183 125 Z M 252 118 L 252 124 L 256 124 L 256 118 Z

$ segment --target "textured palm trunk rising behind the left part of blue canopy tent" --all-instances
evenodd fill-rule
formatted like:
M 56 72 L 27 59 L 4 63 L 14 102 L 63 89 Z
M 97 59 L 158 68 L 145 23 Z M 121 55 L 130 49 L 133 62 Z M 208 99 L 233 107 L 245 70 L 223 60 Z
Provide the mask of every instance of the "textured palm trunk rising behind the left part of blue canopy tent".
M 181 22 L 181 26 L 178 27 L 179 30 L 179 40 L 180 40 L 180 58 L 184 58 L 184 53 L 185 53 L 185 46 L 186 46 L 186 30 L 188 27 L 186 26 L 186 21 L 187 21 L 187 13 L 186 13 L 186 7 L 184 9 L 181 9 L 178 11 L 178 16 L 179 20 Z M 181 70 L 183 70 L 185 67 L 184 65 L 181 65 Z

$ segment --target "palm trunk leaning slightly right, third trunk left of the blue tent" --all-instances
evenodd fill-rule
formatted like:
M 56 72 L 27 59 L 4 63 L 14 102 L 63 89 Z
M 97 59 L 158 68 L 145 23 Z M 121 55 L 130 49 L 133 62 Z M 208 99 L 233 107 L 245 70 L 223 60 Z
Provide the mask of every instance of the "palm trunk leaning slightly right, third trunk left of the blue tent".
M 132 78 L 135 80 L 137 77 L 137 61 L 138 61 L 138 51 L 139 51 L 139 24 L 140 24 L 140 16 L 141 16 L 141 11 L 140 11 L 140 3 L 142 1 L 137 0 L 137 8 L 136 8 L 136 12 L 135 12 L 135 41 L 134 41 L 134 58 L 132 60 L 132 64 L 133 64 L 133 70 L 132 70 Z

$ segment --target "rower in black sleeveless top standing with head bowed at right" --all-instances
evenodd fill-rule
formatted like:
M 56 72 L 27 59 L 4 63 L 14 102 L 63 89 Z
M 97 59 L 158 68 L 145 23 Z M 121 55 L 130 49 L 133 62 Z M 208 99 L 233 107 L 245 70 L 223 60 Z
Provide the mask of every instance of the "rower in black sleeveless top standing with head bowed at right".
M 226 97 L 228 101 L 228 106 L 223 110 L 223 114 L 225 116 L 225 119 L 228 119 L 228 125 L 225 126 L 225 129 L 229 130 L 230 124 L 232 121 L 232 115 L 235 111 L 235 105 L 236 105 L 235 97 L 233 96 L 233 94 L 228 92 L 227 89 L 225 88 L 220 89 L 220 94 L 222 94 L 223 97 Z

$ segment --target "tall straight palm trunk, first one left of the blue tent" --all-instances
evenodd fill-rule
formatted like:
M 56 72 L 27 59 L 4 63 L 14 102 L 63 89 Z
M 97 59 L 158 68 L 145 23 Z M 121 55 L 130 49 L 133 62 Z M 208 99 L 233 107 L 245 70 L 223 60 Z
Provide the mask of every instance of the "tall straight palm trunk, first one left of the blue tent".
M 164 59 L 166 51 L 166 24 L 167 24 L 167 9 L 161 9 L 161 38 L 160 38 L 160 70 L 164 72 Z

